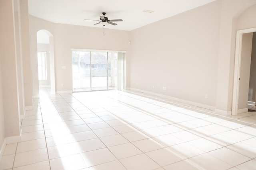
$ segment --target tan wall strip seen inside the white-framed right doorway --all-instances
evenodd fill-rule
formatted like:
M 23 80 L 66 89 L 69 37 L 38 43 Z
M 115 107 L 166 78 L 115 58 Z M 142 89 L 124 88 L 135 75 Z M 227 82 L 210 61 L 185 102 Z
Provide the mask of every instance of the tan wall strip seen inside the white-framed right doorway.
M 243 34 L 243 39 L 242 39 L 238 109 L 247 108 L 251 55 L 252 55 L 252 33 L 246 33 L 246 34 Z

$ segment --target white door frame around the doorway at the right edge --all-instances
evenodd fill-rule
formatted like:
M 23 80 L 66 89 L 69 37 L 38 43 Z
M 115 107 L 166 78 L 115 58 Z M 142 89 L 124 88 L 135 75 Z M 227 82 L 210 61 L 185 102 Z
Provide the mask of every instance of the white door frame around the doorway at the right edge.
M 235 51 L 235 65 L 234 65 L 232 115 L 238 115 L 238 102 L 239 102 L 238 97 L 239 97 L 239 86 L 240 86 L 240 70 L 241 70 L 243 34 L 244 33 L 252 33 L 252 32 L 256 32 L 256 27 L 236 31 L 236 51 Z

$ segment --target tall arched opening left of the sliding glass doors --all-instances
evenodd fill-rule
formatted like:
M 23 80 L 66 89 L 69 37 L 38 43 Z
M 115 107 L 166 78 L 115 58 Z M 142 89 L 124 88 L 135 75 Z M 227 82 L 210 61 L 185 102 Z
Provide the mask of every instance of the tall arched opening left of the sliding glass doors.
M 37 31 L 38 81 L 40 87 L 50 87 L 55 94 L 55 68 L 53 35 L 48 30 Z

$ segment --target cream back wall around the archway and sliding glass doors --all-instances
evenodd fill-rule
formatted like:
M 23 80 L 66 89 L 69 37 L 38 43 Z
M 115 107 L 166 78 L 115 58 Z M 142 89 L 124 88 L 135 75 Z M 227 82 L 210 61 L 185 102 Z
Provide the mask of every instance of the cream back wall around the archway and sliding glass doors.
M 103 28 L 51 23 L 30 16 L 34 95 L 39 94 L 38 74 L 36 70 L 37 47 L 35 43 L 36 32 L 40 29 L 46 29 L 53 35 L 56 92 L 72 91 L 71 48 L 127 51 L 126 58 L 129 58 L 129 31 L 105 28 L 104 36 Z M 62 66 L 66 66 L 66 69 L 62 69 Z M 61 86 L 62 83 L 64 84 L 63 87 Z

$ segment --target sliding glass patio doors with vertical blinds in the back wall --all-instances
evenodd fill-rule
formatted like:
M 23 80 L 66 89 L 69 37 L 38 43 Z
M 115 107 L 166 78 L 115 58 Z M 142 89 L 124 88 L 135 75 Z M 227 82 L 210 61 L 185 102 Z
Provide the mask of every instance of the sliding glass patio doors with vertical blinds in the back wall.
M 72 49 L 73 92 L 123 90 L 124 52 Z

